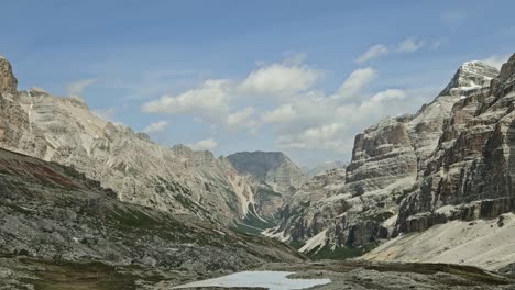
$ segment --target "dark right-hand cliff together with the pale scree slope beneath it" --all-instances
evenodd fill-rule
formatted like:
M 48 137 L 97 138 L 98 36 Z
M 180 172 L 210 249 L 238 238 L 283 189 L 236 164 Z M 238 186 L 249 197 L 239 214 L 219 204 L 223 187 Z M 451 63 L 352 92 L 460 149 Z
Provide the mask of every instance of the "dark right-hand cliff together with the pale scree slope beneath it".
M 387 243 L 377 249 L 382 254 L 372 253 L 370 258 L 416 260 L 420 239 L 437 235 L 443 244 L 451 241 L 434 253 L 434 260 L 514 270 L 511 250 L 502 250 L 512 244 L 513 215 L 508 213 L 515 209 L 511 152 L 514 81 L 515 55 L 490 88 L 454 104 L 419 187 L 402 203 L 393 236 L 410 234 L 395 238 L 396 245 Z M 479 219 L 491 221 L 490 226 Z M 443 235 L 453 228 L 459 231 L 450 237 Z

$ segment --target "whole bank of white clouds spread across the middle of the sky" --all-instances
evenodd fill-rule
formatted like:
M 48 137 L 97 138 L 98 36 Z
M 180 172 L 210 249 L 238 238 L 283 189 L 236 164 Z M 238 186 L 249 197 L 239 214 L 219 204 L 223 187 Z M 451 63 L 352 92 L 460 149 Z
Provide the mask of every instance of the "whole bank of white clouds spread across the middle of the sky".
M 403 44 L 403 51 L 419 45 L 415 40 Z M 394 45 L 391 52 L 396 49 Z M 399 88 L 374 91 L 371 85 L 379 72 L 371 67 L 350 72 L 333 92 L 320 91 L 315 89 L 320 72 L 302 62 L 298 57 L 263 65 L 242 80 L 208 80 L 147 102 L 142 111 L 190 114 L 209 124 L 211 134 L 219 129 L 250 133 L 265 129 L 281 149 L 349 154 L 357 133 L 385 116 L 413 112 L 432 97 Z M 211 137 L 190 146 L 211 150 L 218 143 Z

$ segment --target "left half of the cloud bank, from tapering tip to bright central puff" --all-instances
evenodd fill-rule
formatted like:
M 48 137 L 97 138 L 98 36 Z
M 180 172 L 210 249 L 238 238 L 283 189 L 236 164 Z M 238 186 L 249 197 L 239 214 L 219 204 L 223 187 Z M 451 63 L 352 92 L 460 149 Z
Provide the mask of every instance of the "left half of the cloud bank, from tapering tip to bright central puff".
M 163 96 L 146 102 L 141 110 L 145 113 L 193 114 L 199 122 L 227 126 L 228 129 L 255 129 L 252 120 L 253 107 L 235 110 L 235 102 L 253 96 L 260 100 L 295 97 L 309 90 L 321 72 L 303 65 L 305 55 L 295 54 L 283 63 L 274 63 L 251 71 L 241 81 L 211 79 L 201 86 L 176 96 Z

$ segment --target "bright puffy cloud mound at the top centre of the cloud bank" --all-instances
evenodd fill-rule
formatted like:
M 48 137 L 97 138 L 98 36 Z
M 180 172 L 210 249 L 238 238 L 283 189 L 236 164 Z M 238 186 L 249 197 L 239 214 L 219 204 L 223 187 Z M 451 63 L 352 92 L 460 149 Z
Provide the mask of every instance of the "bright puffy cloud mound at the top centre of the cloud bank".
M 252 71 L 240 85 L 244 93 L 282 96 L 305 91 L 313 87 L 320 72 L 306 66 L 272 64 Z

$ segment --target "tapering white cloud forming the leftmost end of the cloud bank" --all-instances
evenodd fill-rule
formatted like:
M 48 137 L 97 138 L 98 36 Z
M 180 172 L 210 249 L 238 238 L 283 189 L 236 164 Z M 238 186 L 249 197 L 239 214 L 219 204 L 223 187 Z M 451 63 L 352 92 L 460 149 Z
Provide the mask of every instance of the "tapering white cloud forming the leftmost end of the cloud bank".
M 218 120 L 227 114 L 230 83 L 228 80 L 207 80 L 199 88 L 178 96 L 163 96 L 142 105 L 145 113 L 193 113 L 200 114 L 207 121 Z

